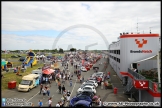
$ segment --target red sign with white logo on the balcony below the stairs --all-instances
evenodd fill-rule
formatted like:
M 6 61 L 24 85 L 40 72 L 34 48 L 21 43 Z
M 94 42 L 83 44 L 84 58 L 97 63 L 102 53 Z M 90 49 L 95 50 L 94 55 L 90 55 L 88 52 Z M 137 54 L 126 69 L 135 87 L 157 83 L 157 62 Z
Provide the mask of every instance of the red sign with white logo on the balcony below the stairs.
M 136 89 L 149 89 L 148 80 L 133 80 L 133 85 Z

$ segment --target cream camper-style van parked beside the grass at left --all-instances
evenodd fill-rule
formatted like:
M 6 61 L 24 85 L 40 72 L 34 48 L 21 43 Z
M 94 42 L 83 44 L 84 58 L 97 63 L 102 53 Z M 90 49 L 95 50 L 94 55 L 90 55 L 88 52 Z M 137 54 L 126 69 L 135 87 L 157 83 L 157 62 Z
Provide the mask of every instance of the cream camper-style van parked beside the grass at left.
M 30 91 L 34 87 L 39 85 L 39 75 L 29 74 L 22 77 L 22 81 L 19 83 L 18 91 Z

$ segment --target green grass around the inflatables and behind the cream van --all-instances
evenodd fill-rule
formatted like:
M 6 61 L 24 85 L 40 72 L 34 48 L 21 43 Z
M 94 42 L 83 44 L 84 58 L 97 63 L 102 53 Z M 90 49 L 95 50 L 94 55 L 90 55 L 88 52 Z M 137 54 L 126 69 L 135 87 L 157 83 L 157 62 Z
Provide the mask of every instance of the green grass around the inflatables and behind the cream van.
M 2 54 L 1 58 L 5 59 L 5 60 L 10 60 L 11 62 L 14 61 L 14 63 L 13 63 L 14 66 L 16 66 L 16 65 L 20 66 L 22 64 L 22 62 L 18 61 L 19 58 L 11 58 L 11 55 L 14 55 L 14 54 L 6 54 L 6 55 Z M 26 56 L 26 54 L 21 54 L 21 55 Z M 64 54 L 54 54 L 54 56 L 64 56 Z M 37 65 L 33 66 L 33 68 L 28 67 L 24 73 L 20 72 L 20 74 L 22 76 L 18 76 L 13 72 L 6 72 L 5 74 L 3 74 L 4 78 L 2 78 L 2 80 L 1 80 L 1 90 L 3 91 L 5 89 L 8 89 L 9 81 L 16 81 L 17 85 L 18 85 L 23 76 L 30 74 L 32 70 L 38 69 L 38 67 L 42 67 L 42 66 L 43 66 L 43 64 L 37 64 Z

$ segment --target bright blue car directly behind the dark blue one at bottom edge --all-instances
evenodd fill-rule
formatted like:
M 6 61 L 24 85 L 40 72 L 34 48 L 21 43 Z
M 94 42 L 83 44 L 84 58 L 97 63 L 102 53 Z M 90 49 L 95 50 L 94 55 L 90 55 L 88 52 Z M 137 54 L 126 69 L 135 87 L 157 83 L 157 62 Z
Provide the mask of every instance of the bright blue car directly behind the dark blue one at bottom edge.
M 81 100 L 85 100 L 85 101 L 89 102 L 90 104 L 92 103 L 91 97 L 89 97 L 89 96 L 87 96 L 87 95 L 82 95 L 82 94 L 80 94 L 80 95 L 77 95 L 77 96 L 73 97 L 73 98 L 70 100 L 69 106 L 70 106 L 70 107 L 74 107 L 74 105 L 75 105 L 76 103 L 78 103 L 79 101 L 81 101 Z

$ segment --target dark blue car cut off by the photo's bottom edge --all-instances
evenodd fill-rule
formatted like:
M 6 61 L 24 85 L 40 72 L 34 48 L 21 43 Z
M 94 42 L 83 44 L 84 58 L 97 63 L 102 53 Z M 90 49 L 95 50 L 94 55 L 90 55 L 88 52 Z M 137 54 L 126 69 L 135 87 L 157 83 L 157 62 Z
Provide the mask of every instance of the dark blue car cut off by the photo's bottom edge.
M 92 103 L 86 100 L 80 100 L 73 107 L 92 107 Z

